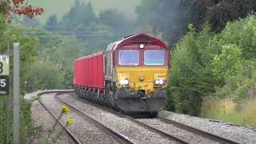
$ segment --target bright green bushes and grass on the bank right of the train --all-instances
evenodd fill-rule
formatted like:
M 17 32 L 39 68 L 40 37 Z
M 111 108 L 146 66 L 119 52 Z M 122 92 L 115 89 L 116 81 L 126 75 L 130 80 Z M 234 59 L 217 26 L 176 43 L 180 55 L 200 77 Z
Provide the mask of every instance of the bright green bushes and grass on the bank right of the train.
M 256 126 L 256 16 L 190 32 L 174 47 L 168 109 Z

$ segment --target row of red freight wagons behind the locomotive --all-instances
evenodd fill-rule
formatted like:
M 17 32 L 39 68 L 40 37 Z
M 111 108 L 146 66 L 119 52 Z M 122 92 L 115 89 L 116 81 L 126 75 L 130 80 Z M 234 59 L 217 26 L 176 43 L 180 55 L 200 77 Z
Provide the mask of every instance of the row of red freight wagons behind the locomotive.
M 103 90 L 103 54 L 99 52 L 75 60 L 74 85 Z

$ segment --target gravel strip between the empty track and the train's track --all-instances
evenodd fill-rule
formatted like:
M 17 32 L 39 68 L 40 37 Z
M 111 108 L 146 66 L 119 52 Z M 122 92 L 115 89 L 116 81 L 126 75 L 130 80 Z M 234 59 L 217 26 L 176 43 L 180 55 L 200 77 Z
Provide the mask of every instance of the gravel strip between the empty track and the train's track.
M 82 102 L 81 100 L 78 100 L 75 94 L 73 94 L 73 96 L 70 94 L 61 94 L 58 95 L 58 98 L 68 102 L 78 110 L 82 110 L 84 113 L 97 119 L 98 122 L 110 127 L 112 130 L 125 135 L 135 143 L 176 143 L 170 141 L 169 138 L 164 138 L 142 126 L 138 126 L 138 124 L 135 124 L 134 122 L 130 122 L 127 118 L 121 118 L 118 115 L 106 112 L 106 110 Z

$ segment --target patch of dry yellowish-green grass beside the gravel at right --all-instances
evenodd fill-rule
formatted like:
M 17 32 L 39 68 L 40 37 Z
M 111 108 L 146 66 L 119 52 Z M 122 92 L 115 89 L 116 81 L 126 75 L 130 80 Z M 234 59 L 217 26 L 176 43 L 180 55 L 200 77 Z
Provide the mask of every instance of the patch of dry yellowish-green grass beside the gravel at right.
M 230 98 L 207 97 L 203 102 L 202 117 L 256 127 L 256 99 L 246 100 L 238 110 Z

